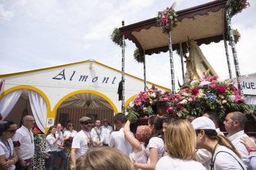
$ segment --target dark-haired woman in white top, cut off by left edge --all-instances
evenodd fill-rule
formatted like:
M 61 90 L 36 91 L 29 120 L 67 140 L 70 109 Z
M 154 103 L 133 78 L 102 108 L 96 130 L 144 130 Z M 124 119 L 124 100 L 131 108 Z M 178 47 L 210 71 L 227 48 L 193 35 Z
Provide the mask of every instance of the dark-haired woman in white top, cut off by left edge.
M 0 169 L 15 169 L 18 156 L 15 153 L 12 137 L 17 131 L 13 121 L 0 121 Z

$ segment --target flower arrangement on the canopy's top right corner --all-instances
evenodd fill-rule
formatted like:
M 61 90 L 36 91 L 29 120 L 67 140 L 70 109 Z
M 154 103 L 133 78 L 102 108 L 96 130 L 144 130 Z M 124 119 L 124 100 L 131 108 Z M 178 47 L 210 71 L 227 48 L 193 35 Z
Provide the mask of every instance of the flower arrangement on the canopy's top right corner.
M 250 6 L 249 2 L 247 0 L 228 0 L 227 2 L 230 12 L 230 17 L 233 17 L 234 15 L 242 12 L 243 9 Z

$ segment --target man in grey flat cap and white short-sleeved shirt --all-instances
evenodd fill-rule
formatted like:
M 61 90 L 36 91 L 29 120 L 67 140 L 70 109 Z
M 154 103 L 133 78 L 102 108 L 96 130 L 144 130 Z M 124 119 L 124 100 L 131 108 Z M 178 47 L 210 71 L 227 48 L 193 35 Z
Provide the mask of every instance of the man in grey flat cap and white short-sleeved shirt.
M 81 131 L 79 131 L 72 142 L 70 158 L 75 167 L 75 160 L 82 156 L 89 148 L 93 147 L 93 135 L 90 133 L 91 118 L 83 116 L 79 119 Z

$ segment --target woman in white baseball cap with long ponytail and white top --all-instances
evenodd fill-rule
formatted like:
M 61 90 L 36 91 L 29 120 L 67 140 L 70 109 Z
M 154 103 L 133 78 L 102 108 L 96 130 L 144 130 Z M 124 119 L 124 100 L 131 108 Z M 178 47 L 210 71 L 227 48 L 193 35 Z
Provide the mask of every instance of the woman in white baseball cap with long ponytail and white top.
M 213 155 L 211 169 L 246 169 L 239 152 L 226 137 L 216 132 L 211 119 L 202 116 L 194 119 L 192 125 L 197 134 L 197 149 L 203 148 Z

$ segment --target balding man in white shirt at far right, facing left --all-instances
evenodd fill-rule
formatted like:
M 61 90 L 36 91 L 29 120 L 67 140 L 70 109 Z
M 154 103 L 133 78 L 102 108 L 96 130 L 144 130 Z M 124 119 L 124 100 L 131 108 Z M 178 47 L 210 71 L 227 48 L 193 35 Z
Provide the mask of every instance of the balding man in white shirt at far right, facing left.
M 247 136 L 247 134 L 244 133 L 246 121 L 247 118 L 243 113 L 239 111 L 234 111 L 228 113 L 224 121 L 224 126 L 226 131 L 228 132 L 228 139 L 232 142 L 234 147 L 242 156 L 242 162 L 245 164 L 245 166 L 247 166 L 247 169 L 252 169 L 250 163 L 247 161 L 247 158 L 249 156 L 247 148 L 244 144 L 239 142 L 241 137 Z

